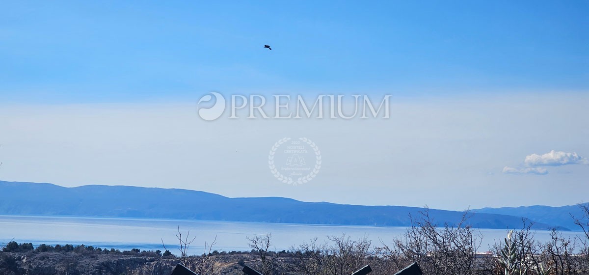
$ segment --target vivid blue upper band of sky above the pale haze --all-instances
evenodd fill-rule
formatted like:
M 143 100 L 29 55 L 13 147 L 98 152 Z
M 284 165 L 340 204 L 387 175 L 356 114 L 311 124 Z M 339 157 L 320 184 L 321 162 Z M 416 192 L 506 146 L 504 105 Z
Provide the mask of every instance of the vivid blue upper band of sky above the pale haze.
M 588 11 L 587 1 L 11 2 L 0 11 L 0 93 L 586 91 Z

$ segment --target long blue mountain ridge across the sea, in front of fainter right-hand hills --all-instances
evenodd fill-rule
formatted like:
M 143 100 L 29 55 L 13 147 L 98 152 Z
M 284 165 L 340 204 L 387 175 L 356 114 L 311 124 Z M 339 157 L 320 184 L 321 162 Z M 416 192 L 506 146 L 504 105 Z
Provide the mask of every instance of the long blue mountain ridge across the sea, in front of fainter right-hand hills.
M 410 226 L 409 214 L 421 207 L 354 206 L 307 203 L 282 197 L 229 198 L 203 191 L 111 185 L 61 187 L 49 183 L 0 181 L 0 214 L 81 217 L 174 218 L 186 220 L 247 221 L 264 223 Z M 477 210 L 469 223 L 477 228 L 521 228 L 519 215 Z M 430 209 L 439 224 L 456 224 L 460 211 Z M 559 227 L 551 220 L 534 228 Z

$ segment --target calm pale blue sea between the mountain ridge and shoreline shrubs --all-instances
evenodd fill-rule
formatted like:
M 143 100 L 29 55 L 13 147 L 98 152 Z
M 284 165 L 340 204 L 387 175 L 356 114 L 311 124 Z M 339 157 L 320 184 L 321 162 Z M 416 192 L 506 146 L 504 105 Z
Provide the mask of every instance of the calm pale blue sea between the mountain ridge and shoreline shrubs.
M 200 254 L 204 244 L 217 238 L 213 249 L 219 251 L 249 251 L 247 236 L 272 234 L 274 249 L 288 250 L 291 246 L 318 237 L 346 234 L 352 238 L 368 236 L 373 243 L 391 243 L 395 237 L 405 233 L 405 227 L 373 226 L 322 226 L 307 224 L 239 223 L 228 221 L 186 221 L 156 220 L 134 218 L 85 218 L 85 217 L 33 217 L 0 216 L 0 246 L 13 238 L 18 243 L 39 244 L 85 244 L 87 246 L 130 250 L 164 250 L 166 247 L 177 250 L 176 233 L 180 230 L 196 240 L 190 252 Z M 481 229 L 482 246 L 479 251 L 487 251 L 489 245 L 502 240 L 507 230 Z M 547 241 L 549 231 L 535 231 L 535 237 Z M 580 232 L 563 232 L 565 237 L 581 236 Z

